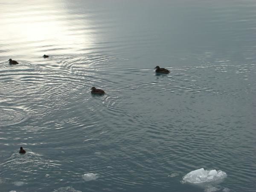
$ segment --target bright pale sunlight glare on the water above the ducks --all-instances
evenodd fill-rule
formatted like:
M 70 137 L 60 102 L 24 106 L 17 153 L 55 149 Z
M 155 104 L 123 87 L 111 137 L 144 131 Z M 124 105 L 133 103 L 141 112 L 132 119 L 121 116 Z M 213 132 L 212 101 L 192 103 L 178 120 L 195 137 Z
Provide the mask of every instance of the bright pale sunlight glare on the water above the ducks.
M 94 32 L 87 17 L 70 15 L 61 2 L 41 3 L 44 4 L 2 4 L 0 44 L 11 50 L 17 46 L 22 49 L 51 46 L 51 49 L 71 48 L 74 51 L 90 48 Z

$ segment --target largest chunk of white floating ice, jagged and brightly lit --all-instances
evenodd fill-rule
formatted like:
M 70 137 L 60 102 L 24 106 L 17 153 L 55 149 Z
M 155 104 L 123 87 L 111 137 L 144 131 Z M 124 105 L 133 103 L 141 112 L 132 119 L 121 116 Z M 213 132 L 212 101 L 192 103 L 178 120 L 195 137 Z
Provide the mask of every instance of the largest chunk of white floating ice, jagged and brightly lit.
M 223 178 L 227 177 L 227 174 L 221 170 L 204 170 L 204 168 L 197 169 L 195 171 L 189 172 L 183 177 L 183 183 L 207 183 L 213 181 L 221 181 Z

